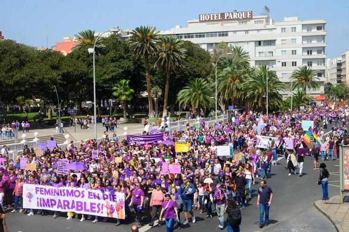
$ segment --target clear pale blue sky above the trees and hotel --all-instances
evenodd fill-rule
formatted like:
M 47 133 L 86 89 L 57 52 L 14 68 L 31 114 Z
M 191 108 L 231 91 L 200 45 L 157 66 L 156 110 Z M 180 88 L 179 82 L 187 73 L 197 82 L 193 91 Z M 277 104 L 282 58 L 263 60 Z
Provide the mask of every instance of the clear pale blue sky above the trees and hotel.
M 132 30 L 151 25 L 169 30 L 176 25 L 187 27 L 187 20 L 198 19 L 203 13 L 251 10 L 260 15 L 264 5 L 275 21 L 286 16 L 324 19 L 327 58 L 340 57 L 349 49 L 349 1 L 345 0 L 0 0 L 0 31 L 7 39 L 37 48 L 46 47 L 48 37 L 51 48 L 63 37 L 86 29 L 104 32 L 115 26 Z

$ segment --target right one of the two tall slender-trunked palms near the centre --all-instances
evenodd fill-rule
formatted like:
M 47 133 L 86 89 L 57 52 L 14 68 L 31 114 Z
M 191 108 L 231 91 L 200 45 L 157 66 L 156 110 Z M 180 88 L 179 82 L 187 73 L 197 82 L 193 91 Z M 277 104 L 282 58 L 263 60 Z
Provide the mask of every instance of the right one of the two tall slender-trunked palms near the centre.
M 165 96 L 163 101 L 163 113 L 167 115 L 168 88 L 171 71 L 176 72 L 183 67 L 183 61 L 186 57 L 187 50 L 182 48 L 183 40 L 176 36 L 162 36 L 159 40 L 159 58 L 154 67 L 163 69 L 166 72 Z

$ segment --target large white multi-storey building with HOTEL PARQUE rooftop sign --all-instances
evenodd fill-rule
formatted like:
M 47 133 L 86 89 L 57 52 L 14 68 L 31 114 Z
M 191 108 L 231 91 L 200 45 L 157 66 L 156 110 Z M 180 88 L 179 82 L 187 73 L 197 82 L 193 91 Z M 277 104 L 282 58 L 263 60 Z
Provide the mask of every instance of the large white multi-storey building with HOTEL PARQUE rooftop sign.
M 188 27 L 176 26 L 163 35 L 176 35 L 211 51 L 218 43 L 241 46 L 250 56 L 251 66 L 270 64 L 283 82 L 289 82 L 299 66 L 312 66 L 320 79 L 320 89 L 312 96 L 324 95 L 326 42 L 324 20 L 299 20 L 285 17 L 275 22 L 268 15 L 253 16 L 252 11 L 202 14 L 189 20 Z M 308 91 L 307 91 L 308 92 Z M 287 96 L 290 89 L 282 93 Z

